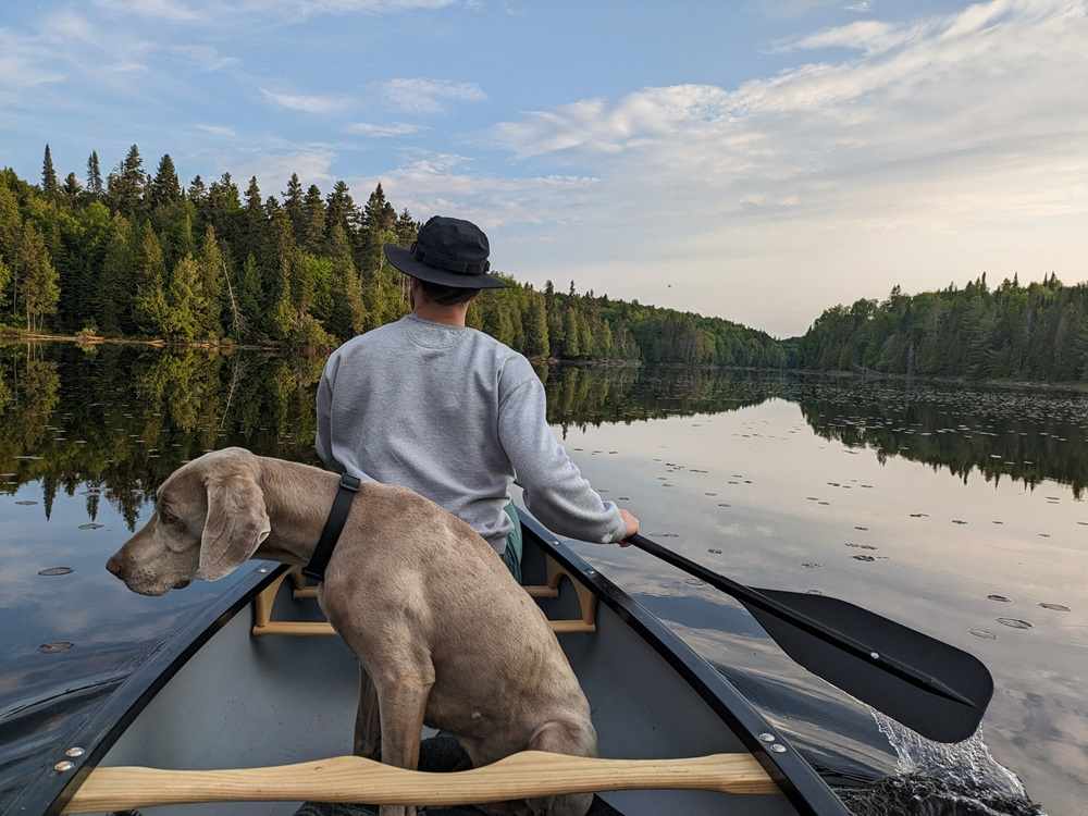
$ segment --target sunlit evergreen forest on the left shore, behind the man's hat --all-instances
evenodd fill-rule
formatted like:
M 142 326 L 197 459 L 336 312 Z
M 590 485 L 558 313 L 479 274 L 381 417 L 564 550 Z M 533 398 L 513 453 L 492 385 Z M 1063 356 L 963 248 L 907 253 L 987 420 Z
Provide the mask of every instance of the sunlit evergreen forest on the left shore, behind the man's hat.
M 382 247 L 418 227 L 380 184 L 362 206 L 297 174 L 280 196 L 230 173 L 183 186 L 169 154 L 152 174 L 136 145 L 104 176 L 96 151 L 61 181 L 47 145 L 39 183 L 0 172 L 0 327 L 324 350 L 407 311 Z M 534 359 L 784 363 L 727 320 L 507 277 L 468 320 Z

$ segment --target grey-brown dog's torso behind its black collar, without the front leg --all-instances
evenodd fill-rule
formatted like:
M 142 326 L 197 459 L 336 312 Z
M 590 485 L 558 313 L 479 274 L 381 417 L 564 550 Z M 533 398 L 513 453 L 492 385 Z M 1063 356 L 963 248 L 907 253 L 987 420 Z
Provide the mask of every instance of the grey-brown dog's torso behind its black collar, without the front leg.
M 425 651 L 425 722 L 455 734 L 473 765 L 523 750 L 595 754 L 589 703 L 543 613 L 487 542 L 434 503 L 364 485 L 321 601 L 342 634 L 371 630 L 348 641 L 372 672 L 415 665 Z M 531 809 L 581 814 L 590 799 Z

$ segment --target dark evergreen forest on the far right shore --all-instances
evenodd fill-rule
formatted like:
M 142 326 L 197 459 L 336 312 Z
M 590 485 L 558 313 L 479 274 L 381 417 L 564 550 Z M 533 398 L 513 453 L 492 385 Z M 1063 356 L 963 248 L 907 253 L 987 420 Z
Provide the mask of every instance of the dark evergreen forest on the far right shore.
M 969 380 L 1088 380 L 1088 285 L 1051 273 L 1022 286 L 990 288 L 986 275 L 963 288 L 857 300 L 827 309 L 803 337 L 783 343 L 788 364 Z

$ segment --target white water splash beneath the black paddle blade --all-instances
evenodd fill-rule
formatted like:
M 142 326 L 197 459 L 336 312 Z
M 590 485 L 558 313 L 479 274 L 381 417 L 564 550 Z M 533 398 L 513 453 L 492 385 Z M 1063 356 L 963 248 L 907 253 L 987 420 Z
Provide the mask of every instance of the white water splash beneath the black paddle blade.
M 873 712 L 895 751 L 895 774 L 865 788 L 840 790 L 860 816 L 1046 816 L 1023 782 L 993 758 L 982 729 L 954 745 L 932 742 Z

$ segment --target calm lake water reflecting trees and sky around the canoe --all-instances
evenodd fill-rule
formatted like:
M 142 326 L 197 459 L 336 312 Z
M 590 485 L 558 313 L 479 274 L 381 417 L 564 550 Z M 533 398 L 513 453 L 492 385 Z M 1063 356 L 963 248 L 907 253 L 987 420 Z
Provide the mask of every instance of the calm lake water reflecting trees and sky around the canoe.
M 154 487 L 232 444 L 313 461 L 320 369 L 255 353 L 0 346 L 0 809 L 172 620 L 228 589 L 145 598 L 104 571 Z M 981 737 L 936 746 L 807 675 L 710 588 L 636 551 L 582 547 L 856 811 L 1085 813 L 1088 397 L 541 373 L 557 433 L 651 537 L 749 583 L 867 606 L 990 667 Z

